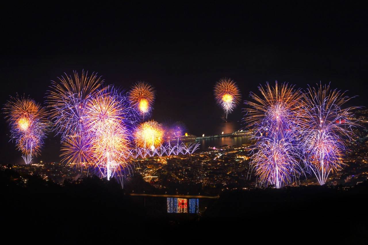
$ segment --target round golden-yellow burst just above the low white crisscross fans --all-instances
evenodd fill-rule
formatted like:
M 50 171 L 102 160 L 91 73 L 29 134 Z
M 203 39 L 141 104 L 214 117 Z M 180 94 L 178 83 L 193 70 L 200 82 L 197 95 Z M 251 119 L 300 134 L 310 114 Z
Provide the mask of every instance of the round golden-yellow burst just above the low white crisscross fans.
M 139 125 L 135 138 L 139 147 L 155 149 L 163 142 L 163 129 L 156 121 L 147 121 Z

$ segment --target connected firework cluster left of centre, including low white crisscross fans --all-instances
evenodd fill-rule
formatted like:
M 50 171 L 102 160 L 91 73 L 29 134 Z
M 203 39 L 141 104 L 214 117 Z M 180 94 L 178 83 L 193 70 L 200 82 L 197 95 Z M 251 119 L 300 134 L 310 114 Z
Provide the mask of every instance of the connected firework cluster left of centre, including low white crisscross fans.
M 53 82 L 47 102 L 52 111 L 54 130 L 61 135 L 62 161 L 76 167 L 96 170 L 108 180 L 130 167 L 132 159 L 147 156 L 191 154 L 199 144 L 162 145 L 164 131 L 155 121 L 137 127 L 140 115 L 149 110 L 137 106 L 142 99 L 151 109 L 153 88 L 139 82 L 128 95 L 102 80 L 82 72 L 79 78 Z M 143 108 L 144 109 L 144 108 Z

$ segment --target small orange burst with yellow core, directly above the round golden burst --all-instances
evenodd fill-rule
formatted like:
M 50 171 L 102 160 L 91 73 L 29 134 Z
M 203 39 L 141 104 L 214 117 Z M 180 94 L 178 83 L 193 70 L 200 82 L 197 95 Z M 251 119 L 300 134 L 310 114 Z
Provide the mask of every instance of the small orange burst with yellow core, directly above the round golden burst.
M 152 110 L 155 89 L 146 82 L 137 82 L 129 92 L 129 99 L 139 110 L 143 118 Z

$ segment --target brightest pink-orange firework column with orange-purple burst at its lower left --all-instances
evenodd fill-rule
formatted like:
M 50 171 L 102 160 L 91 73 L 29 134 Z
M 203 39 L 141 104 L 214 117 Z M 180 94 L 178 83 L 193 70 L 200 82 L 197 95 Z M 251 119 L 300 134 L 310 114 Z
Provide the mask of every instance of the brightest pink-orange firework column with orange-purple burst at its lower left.
M 63 161 L 92 166 L 107 180 L 120 174 L 131 163 L 132 129 L 138 119 L 126 96 L 112 87 L 98 90 L 85 101 L 82 133 L 63 143 Z

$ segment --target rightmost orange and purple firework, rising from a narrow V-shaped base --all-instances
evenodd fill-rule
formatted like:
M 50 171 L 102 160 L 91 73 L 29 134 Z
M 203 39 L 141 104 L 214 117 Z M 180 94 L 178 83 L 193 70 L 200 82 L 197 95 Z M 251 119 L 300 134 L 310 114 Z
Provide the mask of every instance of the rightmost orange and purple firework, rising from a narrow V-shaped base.
M 351 120 L 353 109 L 342 108 L 349 97 L 330 89 L 329 85 L 309 87 L 304 94 L 303 117 L 307 122 L 302 129 L 301 149 L 307 165 L 316 175 L 319 184 L 325 184 L 330 172 L 341 169 L 343 152 L 354 137 Z

